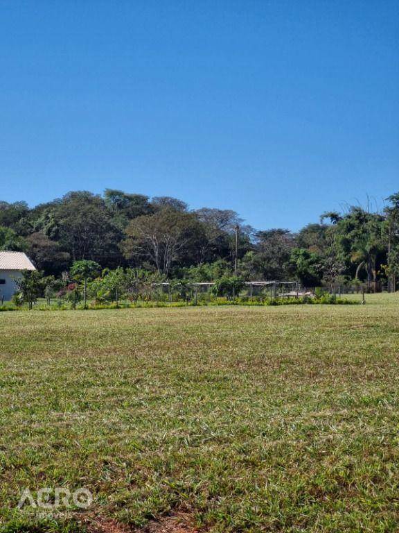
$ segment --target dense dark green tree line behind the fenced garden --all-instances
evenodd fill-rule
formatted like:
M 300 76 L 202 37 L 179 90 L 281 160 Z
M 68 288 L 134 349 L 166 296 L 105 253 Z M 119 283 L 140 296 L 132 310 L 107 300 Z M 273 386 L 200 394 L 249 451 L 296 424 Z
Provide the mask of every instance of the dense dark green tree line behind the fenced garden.
M 45 276 L 86 260 L 151 280 L 299 280 L 305 287 L 378 282 L 399 273 L 399 193 L 382 212 L 321 214 L 298 232 L 255 230 L 233 210 L 190 210 L 177 198 L 106 189 L 29 208 L 0 201 L 0 250 L 24 251 Z

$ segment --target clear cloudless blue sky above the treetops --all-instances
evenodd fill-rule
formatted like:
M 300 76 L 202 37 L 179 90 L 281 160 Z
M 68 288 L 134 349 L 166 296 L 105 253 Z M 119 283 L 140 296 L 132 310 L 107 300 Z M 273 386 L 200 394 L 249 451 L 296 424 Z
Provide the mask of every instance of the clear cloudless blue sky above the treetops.
M 297 229 L 399 190 L 398 0 L 2 0 L 0 199 Z

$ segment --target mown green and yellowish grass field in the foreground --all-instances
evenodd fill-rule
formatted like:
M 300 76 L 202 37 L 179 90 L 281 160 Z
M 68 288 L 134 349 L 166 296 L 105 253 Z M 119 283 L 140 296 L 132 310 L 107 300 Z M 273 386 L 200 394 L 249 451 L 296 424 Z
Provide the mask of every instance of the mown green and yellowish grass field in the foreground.
M 1 531 L 398 530 L 399 296 L 366 302 L 2 313 Z M 17 508 L 60 486 L 91 507 Z

